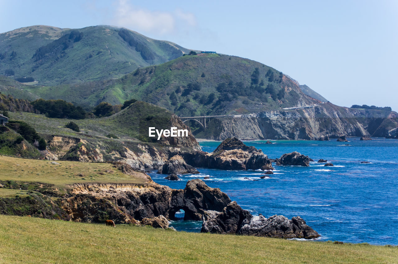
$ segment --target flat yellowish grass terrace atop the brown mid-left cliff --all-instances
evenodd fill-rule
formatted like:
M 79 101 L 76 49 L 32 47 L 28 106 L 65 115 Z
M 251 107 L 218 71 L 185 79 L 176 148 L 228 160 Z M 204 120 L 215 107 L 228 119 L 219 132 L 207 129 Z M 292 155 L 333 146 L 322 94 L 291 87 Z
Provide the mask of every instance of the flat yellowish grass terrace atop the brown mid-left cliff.
M 0 181 L 54 184 L 57 188 L 74 183 L 145 183 L 144 173 L 127 175 L 109 163 L 30 160 L 0 156 Z M 80 176 L 79 176 L 80 175 Z M 1 193 L 0 193 L 1 194 Z

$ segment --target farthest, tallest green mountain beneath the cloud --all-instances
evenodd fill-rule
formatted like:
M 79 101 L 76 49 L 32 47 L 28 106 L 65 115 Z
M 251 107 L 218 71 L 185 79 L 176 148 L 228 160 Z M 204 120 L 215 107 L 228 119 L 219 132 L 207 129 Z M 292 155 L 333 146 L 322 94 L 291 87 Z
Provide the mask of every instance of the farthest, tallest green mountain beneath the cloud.
M 189 50 L 112 26 L 60 29 L 36 25 L 0 34 L 0 74 L 39 85 L 112 79 Z

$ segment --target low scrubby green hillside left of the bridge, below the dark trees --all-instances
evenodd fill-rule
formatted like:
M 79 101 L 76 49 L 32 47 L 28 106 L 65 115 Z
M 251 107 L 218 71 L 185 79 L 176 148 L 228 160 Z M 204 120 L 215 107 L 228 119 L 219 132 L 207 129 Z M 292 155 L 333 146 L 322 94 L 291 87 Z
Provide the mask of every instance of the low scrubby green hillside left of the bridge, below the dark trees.
M 118 139 L 113 140 L 140 140 L 151 142 L 152 138 L 148 138 L 148 127 L 154 126 L 159 129 L 170 129 L 172 126 L 172 112 L 141 101 L 135 102 L 130 107 L 112 116 L 103 118 L 77 120 L 47 118 L 42 114 L 27 112 L 9 112 L 9 115 L 12 120 L 25 121 L 34 127 L 38 133 L 81 139 L 92 137 L 109 139 L 107 135 L 114 134 Z M 66 123 L 70 121 L 73 121 L 79 126 L 80 132 L 64 127 Z M 156 140 L 154 142 L 158 141 Z

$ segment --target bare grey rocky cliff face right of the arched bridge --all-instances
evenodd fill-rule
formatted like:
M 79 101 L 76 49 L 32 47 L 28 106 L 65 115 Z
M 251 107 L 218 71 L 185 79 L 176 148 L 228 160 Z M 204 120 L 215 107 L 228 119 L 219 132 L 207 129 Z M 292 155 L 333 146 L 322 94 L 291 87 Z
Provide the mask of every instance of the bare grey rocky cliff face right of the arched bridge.
M 205 137 L 224 140 L 242 139 L 307 139 L 320 137 L 386 137 L 390 129 L 398 127 L 398 114 L 392 111 L 345 108 L 331 103 L 314 108 L 273 110 L 252 115 L 221 118 L 217 133 Z M 212 129 L 209 123 L 209 131 Z

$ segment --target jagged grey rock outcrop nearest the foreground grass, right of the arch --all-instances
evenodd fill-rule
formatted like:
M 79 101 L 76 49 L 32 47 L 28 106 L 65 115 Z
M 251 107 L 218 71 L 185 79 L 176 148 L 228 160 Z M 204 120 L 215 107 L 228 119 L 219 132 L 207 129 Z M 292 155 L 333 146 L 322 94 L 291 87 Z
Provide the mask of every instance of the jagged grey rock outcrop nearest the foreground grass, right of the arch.
M 291 220 L 277 215 L 269 218 L 261 214 L 252 216 L 236 202 L 230 202 L 221 212 L 206 211 L 201 232 L 305 239 L 320 236 L 299 216 Z

